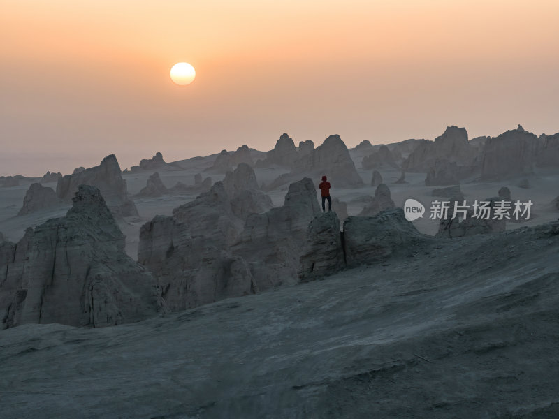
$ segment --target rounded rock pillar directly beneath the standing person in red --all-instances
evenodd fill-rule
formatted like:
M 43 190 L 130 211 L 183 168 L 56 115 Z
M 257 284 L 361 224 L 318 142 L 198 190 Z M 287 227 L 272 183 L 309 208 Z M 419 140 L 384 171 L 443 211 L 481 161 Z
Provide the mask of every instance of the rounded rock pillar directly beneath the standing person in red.
M 319 214 L 309 223 L 299 262 L 301 281 L 331 275 L 345 267 L 340 220 L 335 212 Z

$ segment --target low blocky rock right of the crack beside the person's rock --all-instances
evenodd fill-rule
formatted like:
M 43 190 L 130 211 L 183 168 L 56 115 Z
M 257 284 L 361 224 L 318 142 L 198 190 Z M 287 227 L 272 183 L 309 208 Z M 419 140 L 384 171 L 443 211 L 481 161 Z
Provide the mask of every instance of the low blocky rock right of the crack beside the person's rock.
M 395 253 L 411 253 L 428 240 L 407 221 L 401 208 L 375 216 L 350 216 L 344 222 L 347 267 L 377 263 Z

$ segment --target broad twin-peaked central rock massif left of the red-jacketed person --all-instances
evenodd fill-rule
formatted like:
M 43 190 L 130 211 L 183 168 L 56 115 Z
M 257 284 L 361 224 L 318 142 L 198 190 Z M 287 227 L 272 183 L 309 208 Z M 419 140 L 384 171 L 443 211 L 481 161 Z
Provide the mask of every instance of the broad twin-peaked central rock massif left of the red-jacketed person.
M 247 165 L 239 165 L 240 172 L 252 170 L 242 166 Z M 233 173 L 230 191 L 236 190 L 231 187 L 235 177 L 254 186 L 250 176 Z M 138 260 L 153 272 L 170 309 L 298 280 L 307 227 L 320 214 L 312 181 L 291 184 L 282 207 L 248 214 L 244 226 L 233 202 L 224 182 L 217 182 L 210 192 L 175 208 L 173 216 L 156 216 L 141 228 Z

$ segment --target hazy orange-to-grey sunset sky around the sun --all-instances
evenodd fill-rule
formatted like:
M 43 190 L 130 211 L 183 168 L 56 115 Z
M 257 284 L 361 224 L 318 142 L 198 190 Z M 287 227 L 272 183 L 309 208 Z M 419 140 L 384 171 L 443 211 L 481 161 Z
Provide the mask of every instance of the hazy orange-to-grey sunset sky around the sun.
M 0 0 L 0 175 L 559 131 L 557 0 Z M 177 86 L 171 66 L 196 79 Z

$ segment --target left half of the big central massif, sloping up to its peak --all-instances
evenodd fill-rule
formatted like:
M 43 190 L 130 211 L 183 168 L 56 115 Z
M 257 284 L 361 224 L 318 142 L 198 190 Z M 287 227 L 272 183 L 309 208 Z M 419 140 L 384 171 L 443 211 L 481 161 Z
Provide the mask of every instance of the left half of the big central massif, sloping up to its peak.
M 168 307 L 176 311 L 238 295 L 228 286 L 234 261 L 227 249 L 242 230 L 224 184 L 140 228 L 138 260 L 150 270 Z M 242 271 L 242 261 L 235 264 Z M 250 288 L 250 279 L 247 277 Z M 240 285 L 235 282 L 235 289 Z M 242 288 L 242 287 L 241 287 Z

